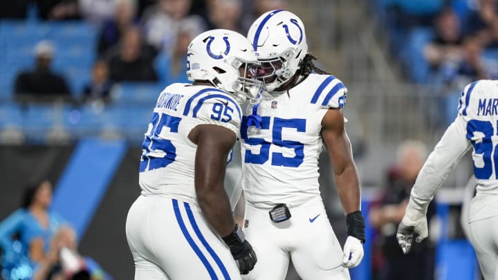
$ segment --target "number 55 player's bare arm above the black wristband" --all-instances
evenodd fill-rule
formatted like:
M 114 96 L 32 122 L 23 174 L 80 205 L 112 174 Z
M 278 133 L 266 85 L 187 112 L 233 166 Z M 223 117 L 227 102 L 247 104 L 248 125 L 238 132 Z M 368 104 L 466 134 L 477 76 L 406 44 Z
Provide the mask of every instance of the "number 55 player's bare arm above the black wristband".
M 344 214 L 360 210 L 360 179 L 353 162 L 351 142 L 344 130 L 342 111 L 329 109 L 322 120 L 322 139 L 333 164 Z

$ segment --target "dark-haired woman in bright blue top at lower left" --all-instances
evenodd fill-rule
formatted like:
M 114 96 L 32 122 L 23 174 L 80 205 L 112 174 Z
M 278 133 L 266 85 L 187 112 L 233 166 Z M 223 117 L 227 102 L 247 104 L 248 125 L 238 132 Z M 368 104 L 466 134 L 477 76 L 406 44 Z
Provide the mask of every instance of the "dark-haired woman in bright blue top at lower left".
M 59 214 L 48 210 L 51 201 L 52 184 L 48 180 L 29 185 L 21 209 L 0 223 L 4 268 L 12 270 L 19 265 L 35 265 L 46 259 L 50 239 L 65 223 Z M 25 262 L 26 259 L 29 261 Z

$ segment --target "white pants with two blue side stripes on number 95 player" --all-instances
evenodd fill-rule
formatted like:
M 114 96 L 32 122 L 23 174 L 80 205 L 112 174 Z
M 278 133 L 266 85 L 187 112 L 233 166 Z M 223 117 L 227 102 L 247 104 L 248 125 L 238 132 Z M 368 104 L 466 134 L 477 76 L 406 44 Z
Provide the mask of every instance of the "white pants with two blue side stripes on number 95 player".
M 201 210 L 181 200 L 139 196 L 129 209 L 126 234 L 135 280 L 241 279 Z

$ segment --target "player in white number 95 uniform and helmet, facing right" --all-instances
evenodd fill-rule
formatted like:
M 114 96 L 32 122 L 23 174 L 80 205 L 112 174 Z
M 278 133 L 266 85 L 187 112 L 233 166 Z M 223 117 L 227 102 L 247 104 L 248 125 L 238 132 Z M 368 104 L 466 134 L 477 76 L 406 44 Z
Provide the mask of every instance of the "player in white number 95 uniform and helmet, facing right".
M 223 178 L 239 135 L 239 102 L 260 95 L 257 63 L 246 37 L 210 30 L 187 48 L 194 83 L 160 93 L 142 144 L 142 192 L 127 216 L 136 280 L 240 279 L 255 265 Z

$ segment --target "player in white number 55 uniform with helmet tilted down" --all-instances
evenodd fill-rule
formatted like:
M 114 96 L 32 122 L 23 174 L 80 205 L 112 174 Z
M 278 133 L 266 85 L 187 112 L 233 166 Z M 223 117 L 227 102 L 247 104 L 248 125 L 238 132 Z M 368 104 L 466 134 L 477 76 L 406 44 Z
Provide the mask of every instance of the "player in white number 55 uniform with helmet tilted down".
M 314 66 L 302 21 L 291 12 L 261 15 L 248 39 L 261 63 L 257 77 L 268 92 L 248 106 L 241 124 L 243 230 L 258 255 L 255 269 L 243 279 L 284 279 L 289 259 L 302 279 L 349 279 L 347 268 L 362 260 L 365 223 L 341 111 L 346 87 Z M 323 147 L 347 216 L 344 253 L 320 196 Z

